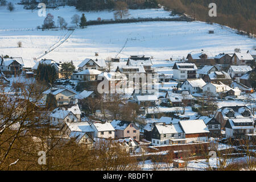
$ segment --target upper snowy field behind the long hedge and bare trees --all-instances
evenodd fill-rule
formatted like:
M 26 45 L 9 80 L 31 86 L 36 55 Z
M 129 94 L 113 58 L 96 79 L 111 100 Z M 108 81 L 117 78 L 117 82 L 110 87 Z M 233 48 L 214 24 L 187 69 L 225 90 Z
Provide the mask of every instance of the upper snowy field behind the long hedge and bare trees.
M 18 3 L 20 0 L 12 0 L 14 3 Z M 6 6 L 0 6 L 0 29 L 5 30 L 23 30 L 26 28 L 36 28 L 43 24 L 43 16 L 38 16 L 38 10 L 24 10 L 23 5 L 14 5 L 15 10 L 10 12 L 6 9 Z M 101 19 L 114 19 L 114 11 L 77 11 L 74 6 L 61 6 L 58 10 L 46 9 L 46 14 L 51 13 L 57 22 L 57 16 L 63 17 L 69 26 L 75 26 L 71 23 L 71 17 L 74 14 L 85 14 L 87 20 Z M 170 16 L 170 11 L 164 11 L 163 9 L 146 9 L 146 10 L 129 10 L 129 16 L 126 18 L 171 18 L 177 16 Z

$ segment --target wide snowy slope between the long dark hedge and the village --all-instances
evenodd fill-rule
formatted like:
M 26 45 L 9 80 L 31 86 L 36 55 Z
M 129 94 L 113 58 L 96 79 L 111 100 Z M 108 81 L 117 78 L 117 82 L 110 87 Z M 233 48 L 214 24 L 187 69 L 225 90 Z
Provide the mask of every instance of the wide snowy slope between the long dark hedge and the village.
M 215 34 L 208 34 L 208 30 L 213 28 Z M 65 34 L 67 31 L 64 30 L 0 31 L 0 53 L 13 57 L 21 56 L 25 66 L 30 67 L 32 57 L 38 57 L 47 51 Z M 22 48 L 17 48 L 18 41 L 22 42 Z M 170 57 L 181 59 L 189 52 L 201 49 L 210 51 L 213 55 L 233 52 L 237 47 L 245 52 L 255 44 L 254 39 L 203 22 L 102 24 L 75 30 L 67 41 L 42 58 L 56 61 L 73 60 L 75 65 L 78 65 L 86 57 L 95 59 L 95 52 L 99 53 L 98 59 L 146 55 L 153 56 L 155 67 L 170 68 L 163 70 L 163 73 L 172 74 L 171 67 L 174 62 L 158 63 L 157 60 Z M 124 45 L 126 46 L 121 51 Z

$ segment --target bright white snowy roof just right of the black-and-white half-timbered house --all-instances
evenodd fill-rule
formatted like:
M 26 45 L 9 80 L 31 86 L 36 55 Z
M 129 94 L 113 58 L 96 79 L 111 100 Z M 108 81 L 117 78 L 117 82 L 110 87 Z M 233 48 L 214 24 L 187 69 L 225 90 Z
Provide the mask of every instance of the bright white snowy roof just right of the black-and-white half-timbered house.
M 180 125 L 185 134 L 209 133 L 208 127 L 205 125 L 203 119 L 183 120 L 180 121 Z

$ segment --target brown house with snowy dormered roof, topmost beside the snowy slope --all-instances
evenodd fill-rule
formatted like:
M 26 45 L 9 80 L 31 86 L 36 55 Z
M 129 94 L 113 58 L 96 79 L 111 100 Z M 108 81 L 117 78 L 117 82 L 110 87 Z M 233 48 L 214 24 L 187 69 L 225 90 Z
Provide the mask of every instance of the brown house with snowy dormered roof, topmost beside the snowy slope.
M 214 65 L 214 57 L 207 51 L 202 50 L 201 52 L 192 51 L 187 56 L 188 63 L 195 63 L 198 65 Z

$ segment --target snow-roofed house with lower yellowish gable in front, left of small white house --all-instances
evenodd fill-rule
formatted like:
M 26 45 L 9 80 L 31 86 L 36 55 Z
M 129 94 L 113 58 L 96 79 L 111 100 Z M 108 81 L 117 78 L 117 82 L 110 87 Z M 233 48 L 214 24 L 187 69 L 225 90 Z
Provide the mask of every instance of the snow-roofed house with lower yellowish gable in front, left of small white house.
M 67 138 L 75 139 L 78 144 L 88 148 L 93 147 L 92 139 L 94 130 L 88 122 L 66 122 L 63 131 Z

